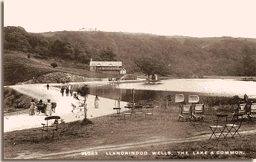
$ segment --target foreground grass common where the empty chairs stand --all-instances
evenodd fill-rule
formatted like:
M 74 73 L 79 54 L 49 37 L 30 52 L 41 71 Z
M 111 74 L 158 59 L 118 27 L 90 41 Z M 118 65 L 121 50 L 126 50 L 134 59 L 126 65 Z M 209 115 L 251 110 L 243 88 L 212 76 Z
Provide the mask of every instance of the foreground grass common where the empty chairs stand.
M 143 110 L 146 111 L 146 110 Z M 92 119 L 93 124 L 84 125 L 81 121 L 61 123 L 59 139 L 41 129 L 25 129 L 22 131 L 4 133 L 4 159 L 22 158 L 22 155 L 49 155 L 50 158 L 61 159 L 252 159 L 256 158 L 255 135 L 243 134 L 236 139 L 220 140 L 204 138 L 202 135 L 211 134 L 208 126 L 212 125 L 217 113 L 227 113 L 218 108 L 206 108 L 205 122 L 192 123 L 178 121 L 179 109 L 153 108 L 153 116 L 145 118 L 134 116 L 124 120 L 124 114 L 118 120 L 112 115 Z M 124 113 L 124 112 L 123 112 Z M 231 115 L 228 121 L 231 120 Z M 18 122 L 18 121 L 17 121 Z M 240 131 L 255 129 L 255 122 L 243 123 Z M 194 141 L 186 142 L 184 139 L 194 137 Z M 197 138 L 197 139 L 196 139 Z M 205 140 L 206 139 L 206 140 Z M 167 141 L 160 143 L 158 141 Z M 170 140 L 173 140 L 171 142 Z M 179 141 L 178 141 L 179 140 Z M 151 141 L 150 143 L 143 143 Z M 168 142 L 169 141 L 169 142 Z M 127 146 L 127 143 L 133 143 Z M 116 149 L 102 149 L 107 146 L 117 146 Z M 124 147 L 122 147 L 124 146 Z M 82 155 L 83 150 L 97 147 L 97 155 Z M 71 151 L 78 150 L 77 154 Z M 106 151 L 107 150 L 107 151 Z M 240 151 L 243 155 L 222 155 L 218 151 Z M 60 152 L 69 152 L 60 154 Z M 110 152 L 110 153 L 106 153 Z M 112 152 L 147 152 L 147 155 L 108 155 Z M 168 152 L 170 155 L 153 155 L 152 152 Z M 179 155 L 178 152 L 189 152 L 189 155 Z M 208 155 L 193 155 L 193 152 L 208 152 Z M 214 152 L 211 155 L 210 152 Z M 68 155 L 69 154 L 69 155 Z M 160 153 L 161 154 L 161 153 Z M 162 153 L 164 154 L 164 153 Z M 44 155 L 42 155 L 44 157 Z

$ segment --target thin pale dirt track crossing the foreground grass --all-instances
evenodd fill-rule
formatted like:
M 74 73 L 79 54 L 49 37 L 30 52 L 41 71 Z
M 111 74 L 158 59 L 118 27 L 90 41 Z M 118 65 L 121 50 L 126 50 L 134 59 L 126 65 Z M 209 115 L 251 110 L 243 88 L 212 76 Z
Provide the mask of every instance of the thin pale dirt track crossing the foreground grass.
M 255 134 L 255 130 L 251 131 L 244 131 L 240 132 L 240 135 L 250 135 Z M 90 147 L 85 149 L 76 149 L 68 152 L 57 152 L 57 153 L 51 153 L 51 154 L 41 154 L 38 152 L 34 152 L 31 154 L 31 152 L 25 152 L 22 154 L 19 154 L 19 156 L 15 159 L 60 159 L 60 158 L 70 158 L 75 159 L 75 157 L 78 157 L 81 155 L 82 152 L 97 152 L 98 155 L 106 155 L 106 152 L 115 152 L 115 151 L 129 151 L 129 149 L 136 149 L 136 148 L 144 148 L 144 147 L 150 147 L 150 146 L 159 146 L 164 144 L 170 144 L 170 143 L 183 143 L 183 142 L 194 142 L 199 140 L 208 140 L 209 137 L 211 137 L 211 134 L 207 135 L 197 135 L 195 137 L 188 137 L 188 138 L 170 138 L 170 137 L 151 137 L 149 140 L 146 140 L 144 142 L 140 143 L 126 143 L 122 145 L 115 145 L 115 146 L 96 146 L 96 147 Z M 95 155 L 92 158 L 97 158 L 97 155 Z

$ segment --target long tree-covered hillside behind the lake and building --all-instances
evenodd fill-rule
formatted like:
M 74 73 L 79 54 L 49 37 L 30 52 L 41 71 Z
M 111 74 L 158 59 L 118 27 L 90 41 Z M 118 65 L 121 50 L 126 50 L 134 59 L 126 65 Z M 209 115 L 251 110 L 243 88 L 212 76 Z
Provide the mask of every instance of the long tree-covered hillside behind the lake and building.
M 174 77 L 256 75 L 256 39 L 191 38 L 141 33 L 60 31 L 28 33 L 22 27 L 4 27 L 4 49 L 43 57 L 75 60 L 118 60 L 127 73 L 141 71 L 138 61 L 153 59 L 162 75 Z M 137 62 L 137 64 L 136 64 Z

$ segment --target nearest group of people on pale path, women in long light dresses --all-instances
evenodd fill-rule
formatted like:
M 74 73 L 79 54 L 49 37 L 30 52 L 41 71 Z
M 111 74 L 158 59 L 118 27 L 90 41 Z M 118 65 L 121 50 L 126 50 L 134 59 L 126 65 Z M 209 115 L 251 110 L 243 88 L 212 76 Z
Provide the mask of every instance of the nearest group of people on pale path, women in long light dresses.
M 31 108 L 29 111 L 30 115 L 39 114 L 39 113 L 45 113 L 46 116 L 51 115 L 53 110 L 51 106 L 51 100 L 47 100 L 47 103 L 42 103 L 42 100 L 39 101 L 39 103 L 36 103 L 35 99 L 31 100 Z

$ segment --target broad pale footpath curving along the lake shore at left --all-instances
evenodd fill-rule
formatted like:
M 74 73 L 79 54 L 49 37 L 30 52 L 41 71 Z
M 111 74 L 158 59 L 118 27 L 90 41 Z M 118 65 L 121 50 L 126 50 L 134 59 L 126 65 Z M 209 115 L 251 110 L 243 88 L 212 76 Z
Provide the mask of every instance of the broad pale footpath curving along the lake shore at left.
M 124 82 L 145 82 L 145 80 L 129 80 L 121 81 Z M 101 82 L 70 82 L 70 85 L 101 85 L 109 84 L 112 81 L 101 81 Z M 78 100 L 75 100 L 74 97 L 62 97 L 60 94 L 60 88 L 55 88 L 55 85 L 63 85 L 57 83 L 49 83 L 49 90 L 46 88 L 46 84 L 28 84 L 28 85 L 10 85 L 8 87 L 19 91 L 22 94 L 27 94 L 36 100 L 43 100 L 44 103 L 47 102 L 47 99 L 50 99 L 51 102 L 57 103 L 56 111 L 52 115 L 60 116 L 65 122 L 72 122 L 75 120 L 83 120 L 83 117 L 79 117 L 76 113 L 73 113 L 73 106 L 71 103 L 79 106 L 80 103 Z M 84 97 L 79 96 L 80 100 L 83 100 Z M 107 114 L 113 114 L 115 111 L 113 108 L 116 106 L 116 100 L 111 100 L 103 97 L 99 97 L 99 108 L 95 108 L 95 96 L 88 95 L 87 103 L 87 118 L 100 117 Z M 126 102 L 120 102 L 121 111 L 127 109 L 124 106 L 127 106 Z M 75 111 L 74 111 L 75 112 Z M 76 117 L 77 116 L 77 117 Z M 32 129 L 36 127 L 41 127 L 42 123 L 45 123 L 45 114 L 33 115 L 28 114 L 16 114 L 11 116 L 4 116 L 4 132 L 11 132 L 22 129 Z

